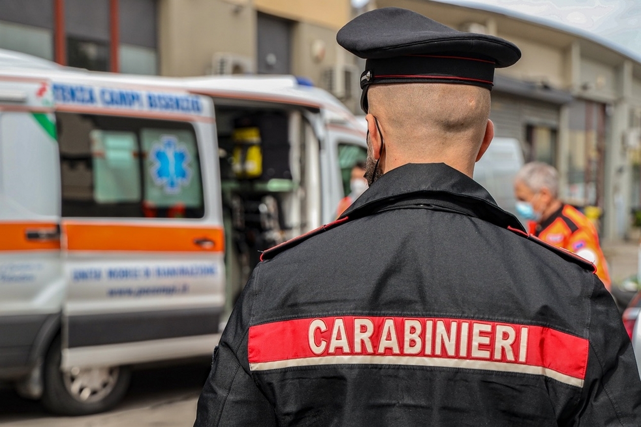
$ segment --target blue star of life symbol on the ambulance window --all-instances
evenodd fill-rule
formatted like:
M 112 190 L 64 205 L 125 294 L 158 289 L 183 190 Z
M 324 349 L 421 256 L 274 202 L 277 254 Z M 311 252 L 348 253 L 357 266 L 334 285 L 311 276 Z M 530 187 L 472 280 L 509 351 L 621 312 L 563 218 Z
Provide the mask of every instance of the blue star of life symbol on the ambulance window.
M 192 178 L 189 162 L 192 157 L 185 145 L 178 143 L 174 135 L 162 135 L 160 142 L 151 147 L 151 177 L 157 186 L 162 186 L 167 194 L 180 193 Z

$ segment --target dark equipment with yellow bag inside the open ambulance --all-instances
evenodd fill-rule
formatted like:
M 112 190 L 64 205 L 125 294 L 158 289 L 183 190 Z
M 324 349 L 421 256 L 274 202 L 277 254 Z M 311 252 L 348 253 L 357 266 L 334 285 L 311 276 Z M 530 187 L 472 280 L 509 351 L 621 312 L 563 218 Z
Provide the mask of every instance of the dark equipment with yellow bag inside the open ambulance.
M 232 266 L 228 275 L 244 284 L 260 252 L 290 237 L 292 223 L 283 209 L 301 180 L 294 181 L 290 167 L 288 111 L 215 105 L 230 244 L 226 264 Z

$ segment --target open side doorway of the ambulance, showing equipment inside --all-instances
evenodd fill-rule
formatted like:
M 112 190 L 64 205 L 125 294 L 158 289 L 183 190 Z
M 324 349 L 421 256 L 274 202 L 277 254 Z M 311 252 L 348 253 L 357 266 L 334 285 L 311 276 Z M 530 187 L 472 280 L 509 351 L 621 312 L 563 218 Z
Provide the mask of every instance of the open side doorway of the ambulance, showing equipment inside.
M 213 101 L 231 312 L 260 251 L 322 223 L 320 114 L 280 102 Z

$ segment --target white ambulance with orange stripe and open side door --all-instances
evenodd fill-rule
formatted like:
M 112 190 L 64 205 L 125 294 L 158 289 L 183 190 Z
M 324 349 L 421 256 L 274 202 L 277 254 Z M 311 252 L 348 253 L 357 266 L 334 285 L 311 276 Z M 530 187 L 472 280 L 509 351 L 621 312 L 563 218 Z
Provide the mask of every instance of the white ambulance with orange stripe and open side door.
M 0 380 L 101 412 L 210 357 L 260 251 L 335 219 L 365 127 L 291 76 L 167 78 L 0 51 Z

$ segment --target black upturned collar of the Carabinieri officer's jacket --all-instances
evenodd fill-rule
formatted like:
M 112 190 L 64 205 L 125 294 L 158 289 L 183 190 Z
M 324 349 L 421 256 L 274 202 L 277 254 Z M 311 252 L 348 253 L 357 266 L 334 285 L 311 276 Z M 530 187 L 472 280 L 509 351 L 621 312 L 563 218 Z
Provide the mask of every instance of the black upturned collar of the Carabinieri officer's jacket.
M 340 218 L 367 216 L 382 205 L 406 198 L 440 197 L 465 204 L 473 216 L 499 225 L 524 230 L 519 220 L 501 209 L 478 182 L 445 163 L 410 163 L 383 174 L 356 199 Z

